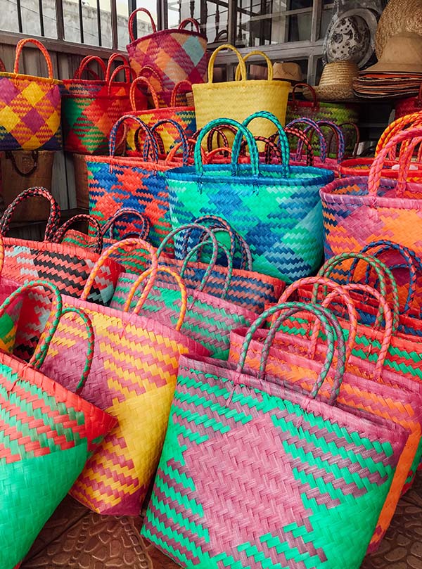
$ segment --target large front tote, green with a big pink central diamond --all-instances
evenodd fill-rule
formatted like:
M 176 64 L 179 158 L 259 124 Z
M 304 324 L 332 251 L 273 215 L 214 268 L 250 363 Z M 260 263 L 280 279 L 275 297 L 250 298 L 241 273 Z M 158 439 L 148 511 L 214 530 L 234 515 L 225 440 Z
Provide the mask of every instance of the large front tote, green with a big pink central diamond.
M 309 394 L 290 388 L 284 376 L 262 381 L 246 371 L 248 345 L 265 319 L 304 307 L 321 313 L 300 303 L 264 312 L 237 366 L 195 355 L 180 360 L 141 533 L 185 568 L 362 563 L 407 433 L 336 404 L 342 366 L 331 404 L 317 397 L 321 377 Z M 323 314 L 321 321 L 326 372 L 334 334 Z

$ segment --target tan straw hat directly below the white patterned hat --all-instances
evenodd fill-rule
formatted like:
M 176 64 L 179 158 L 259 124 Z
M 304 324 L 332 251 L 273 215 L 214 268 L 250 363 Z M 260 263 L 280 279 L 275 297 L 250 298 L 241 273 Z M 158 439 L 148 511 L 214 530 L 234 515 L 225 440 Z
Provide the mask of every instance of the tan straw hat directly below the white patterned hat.
M 354 61 L 333 61 L 322 70 L 318 87 L 314 87 L 316 98 L 321 101 L 338 101 L 353 98 L 353 79 L 359 68 Z M 305 91 L 305 97 L 312 99 L 312 94 Z

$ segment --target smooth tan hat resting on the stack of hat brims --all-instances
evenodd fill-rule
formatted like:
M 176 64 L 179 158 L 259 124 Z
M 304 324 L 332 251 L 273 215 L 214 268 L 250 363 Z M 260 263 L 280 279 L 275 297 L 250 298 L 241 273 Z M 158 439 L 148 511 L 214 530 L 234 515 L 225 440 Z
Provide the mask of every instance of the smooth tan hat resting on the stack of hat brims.
M 422 73 L 422 36 L 404 32 L 391 36 L 371 72 Z

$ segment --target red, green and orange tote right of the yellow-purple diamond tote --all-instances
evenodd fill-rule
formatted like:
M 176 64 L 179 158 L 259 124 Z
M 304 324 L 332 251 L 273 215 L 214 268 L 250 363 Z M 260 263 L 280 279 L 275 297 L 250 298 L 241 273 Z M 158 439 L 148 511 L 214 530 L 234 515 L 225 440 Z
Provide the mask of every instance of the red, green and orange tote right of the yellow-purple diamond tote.
M 113 62 L 122 58 L 114 53 L 106 70 L 101 58 L 92 56 L 84 61 L 73 79 L 63 81 L 63 134 L 65 151 L 79 154 L 105 154 L 108 139 L 116 120 L 130 113 L 129 87 L 132 79 L 127 65 L 113 71 Z M 125 60 L 125 58 L 123 58 Z M 89 63 L 96 61 L 104 72 L 104 79 L 82 79 Z M 101 62 L 101 63 L 100 63 Z M 124 70 L 124 82 L 116 82 L 116 75 Z M 146 108 L 146 96 L 139 94 L 139 108 Z

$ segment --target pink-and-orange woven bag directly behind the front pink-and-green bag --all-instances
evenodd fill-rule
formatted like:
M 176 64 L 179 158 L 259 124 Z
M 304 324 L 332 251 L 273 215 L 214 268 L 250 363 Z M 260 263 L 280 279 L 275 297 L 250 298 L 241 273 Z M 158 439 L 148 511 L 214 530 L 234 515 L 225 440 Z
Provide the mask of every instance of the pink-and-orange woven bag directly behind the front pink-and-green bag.
M 338 402 L 347 405 L 347 407 L 362 409 L 378 417 L 388 418 L 390 421 L 398 423 L 407 430 L 407 443 L 399 457 L 388 497 L 385 500 L 376 530 L 371 539 L 370 551 L 374 551 L 380 544 L 381 539 L 390 525 L 391 518 L 404 487 L 406 486 L 406 490 L 409 488 L 421 460 L 422 394 L 421 392 L 416 392 L 416 390 L 408 390 L 403 386 L 385 385 L 381 377 L 377 378 L 377 370 L 373 378 L 378 379 L 378 381 L 373 381 L 372 378 L 363 378 L 362 375 L 350 371 L 348 360 L 352 354 L 358 327 L 357 313 L 352 298 L 347 293 L 347 290 L 350 290 L 350 288 L 355 290 L 356 287 L 359 288 L 359 285 L 350 284 L 343 288 L 324 277 L 300 279 L 286 289 L 280 301 L 286 302 L 300 287 L 315 284 L 328 286 L 328 288 L 333 290 L 333 293 L 326 298 L 323 306 L 331 302 L 332 296 L 340 297 L 347 306 L 350 319 L 350 333 L 347 338 L 347 358 L 345 362 L 346 373 L 340 386 Z M 362 286 L 363 290 L 365 290 L 365 288 L 365 286 Z M 388 321 L 388 325 L 391 325 L 392 315 L 390 309 L 388 309 L 388 305 L 386 306 L 385 312 L 385 320 Z M 336 338 L 340 338 L 343 341 L 343 330 L 340 328 L 340 324 L 335 317 L 333 318 L 332 326 L 335 327 Z M 279 337 L 274 340 L 274 346 L 269 350 L 269 344 L 273 336 L 276 336 L 276 330 L 277 325 L 274 323 L 271 326 L 271 331 L 257 331 L 257 333 L 255 333 L 248 350 L 246 364 L 252 369 L 260 370 L 260 378 L 262 379 L 264 379 L 265 373 L 269 373 L 275 377 L 286 376 L 288 377 L 288 381 L 293 385 L 300 385 L 301 388 L 311 391 L 316 377 L 321 372 L 325 351 L 320 350 L 317 352 L 315 359 L 313 359 L 312 356 L 309 357 L 309 351 L 313 353 L 316 352 L 316 345 L 312 347 L 312 350 L 304 350 L 305 345 L 303 341 L 299 340 L 297 343 L 297 336 L 295 332 L 292 333 L 291 331 L 290 338 L 287 338 L 287 340 L 286 334 L 279 334 Z M 317 330 L 314 331 L 317 332 Z M 246 329 L 231 333 L 229 361 L 238 362 L 246 333 Z M 267 354 L 267 350 L 269 350 L 267 369 L 260 369 L 262 353 Z M 326 399 L 329 400 L 334 382 L 335 374 L 328 374 L 319 392 L 321 397 L 326 397 Z

